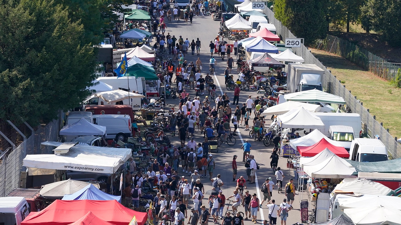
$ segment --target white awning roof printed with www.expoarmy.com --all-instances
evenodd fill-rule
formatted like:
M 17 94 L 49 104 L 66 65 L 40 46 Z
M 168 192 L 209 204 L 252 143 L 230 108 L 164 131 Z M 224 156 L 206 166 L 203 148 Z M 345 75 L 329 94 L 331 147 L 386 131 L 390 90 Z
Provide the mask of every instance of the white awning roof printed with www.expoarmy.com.
M 65 154 L 26 155 L 23 165 L 41 169 L 115 173 L 130 157 L 131 149 L 76 145 Z

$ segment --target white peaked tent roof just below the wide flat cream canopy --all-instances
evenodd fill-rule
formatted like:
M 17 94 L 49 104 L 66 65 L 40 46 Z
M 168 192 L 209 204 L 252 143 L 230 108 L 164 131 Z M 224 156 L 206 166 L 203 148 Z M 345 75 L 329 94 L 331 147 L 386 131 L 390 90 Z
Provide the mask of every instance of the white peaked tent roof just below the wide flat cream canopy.
M 324 129 L 322 120 L 302 107 L 279 115 L 277 122 L 282 128 Z

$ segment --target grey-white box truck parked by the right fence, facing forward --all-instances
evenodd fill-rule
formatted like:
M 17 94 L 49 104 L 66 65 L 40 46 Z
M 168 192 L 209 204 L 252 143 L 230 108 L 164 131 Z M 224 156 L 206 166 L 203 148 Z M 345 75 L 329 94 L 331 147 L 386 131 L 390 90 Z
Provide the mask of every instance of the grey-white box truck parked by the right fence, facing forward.
M 324 70 L 315 64 L 288 63 L 287 88 L 293 93 L 304 90 L 323 90 Z

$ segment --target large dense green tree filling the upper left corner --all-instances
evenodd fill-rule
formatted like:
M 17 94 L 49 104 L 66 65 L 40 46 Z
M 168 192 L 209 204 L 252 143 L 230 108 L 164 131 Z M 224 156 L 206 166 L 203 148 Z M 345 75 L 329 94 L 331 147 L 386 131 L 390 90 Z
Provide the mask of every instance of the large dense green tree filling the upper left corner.
M 3 0 L 0 7 L 0 129 L 51 121 L 79 105 L 95 79 L 96 48 L 83 25 L 51 0 Z

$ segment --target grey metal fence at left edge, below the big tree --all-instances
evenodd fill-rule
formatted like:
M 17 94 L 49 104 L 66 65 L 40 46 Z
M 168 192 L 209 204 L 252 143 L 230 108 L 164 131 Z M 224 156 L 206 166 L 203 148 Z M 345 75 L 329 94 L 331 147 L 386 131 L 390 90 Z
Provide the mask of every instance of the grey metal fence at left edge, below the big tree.
M 14 188 L 22 187 L 20 173 L 26 171 L 22 166 L 22 160 L 26 155 L 53 154 L 52 147 L 41 148 L 43 141 L 57 141 L 57 137 L 63 123 L 63 112 L 59 112 L 59 119 L 39 126 L 26 140 L 20 143 L 15 149 L 8 149 L 10 153 L 0 159 L 0 197 L 4 197 Z

